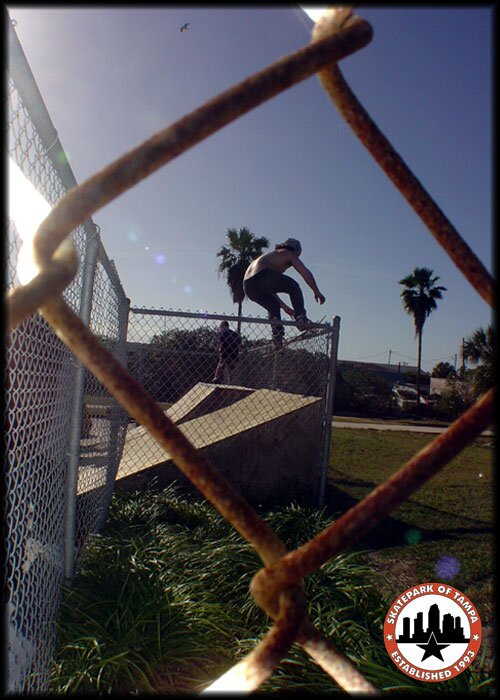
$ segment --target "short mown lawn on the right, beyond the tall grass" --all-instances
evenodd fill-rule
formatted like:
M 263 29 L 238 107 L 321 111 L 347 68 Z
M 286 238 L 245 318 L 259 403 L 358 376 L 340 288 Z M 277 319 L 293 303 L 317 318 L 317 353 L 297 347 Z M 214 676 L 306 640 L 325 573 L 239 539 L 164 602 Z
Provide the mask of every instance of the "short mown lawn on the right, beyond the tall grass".
M 434 437 L 334 430 L 329 511 L 344 512 L 367 496 Z M 491 625 L 493 488 L 493 439 L 481 437 L 367 534 L 361 545 L 374 550 L 369 559 L 389 603 L 415 583 L 447 581 L 471 598 L 483 625 Z M 440 568 L 444 557 L 453 558 L 451 570 Z

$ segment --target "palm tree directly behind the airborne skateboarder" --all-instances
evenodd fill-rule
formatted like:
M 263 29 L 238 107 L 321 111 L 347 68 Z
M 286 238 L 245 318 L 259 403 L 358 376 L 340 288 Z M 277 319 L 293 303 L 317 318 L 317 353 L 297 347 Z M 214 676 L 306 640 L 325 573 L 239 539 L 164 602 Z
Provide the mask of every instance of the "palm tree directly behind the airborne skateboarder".
M 219 275 L 225 274 L 226 281 L 231 290 L 231 297 L 238 304 L 238 316 L 241 317 L 241 307 L 245 293 L 243 291 L 243 276 L 252 260 L 262 255 L 264 248 L 269 247 L 269 240 L 265 236 L 257 237 L 246 226 L 238 229 L 229 228 L 226 234 L 228 245 L 223 245 L 217 257 L 221 262 L 217 268 Z M 238 321 L 238 333 L 241 330 L 241 321 Z

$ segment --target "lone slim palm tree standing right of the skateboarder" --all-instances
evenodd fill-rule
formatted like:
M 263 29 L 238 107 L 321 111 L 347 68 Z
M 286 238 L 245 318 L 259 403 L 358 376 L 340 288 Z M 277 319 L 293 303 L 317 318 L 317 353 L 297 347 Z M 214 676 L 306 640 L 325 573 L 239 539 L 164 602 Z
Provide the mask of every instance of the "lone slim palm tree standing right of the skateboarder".
M 415 267 L 411 275 L 399 280 L 406 289 L 401 292 L 405 311 L 413 316 L 415 335 L 418 337 L 417 359 L 417 412 L 420 410 L 420 368 L 422 365 L 422 332 L 429 314 L 437 307 L 436 299 L 442 298 L 446 287 L 435 286 L 439 277 L 428 267 Z

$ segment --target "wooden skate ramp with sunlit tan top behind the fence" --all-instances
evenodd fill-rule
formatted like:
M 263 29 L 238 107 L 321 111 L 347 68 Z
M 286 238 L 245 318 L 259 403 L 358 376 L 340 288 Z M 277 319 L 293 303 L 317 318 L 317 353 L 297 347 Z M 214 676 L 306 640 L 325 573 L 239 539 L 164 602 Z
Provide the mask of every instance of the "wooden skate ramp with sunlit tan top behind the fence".
M 200 383 L 166 413 L 245 498 L 262 502 L 277 490 L 312 497 L 322 405 L 318 397 Z M 153 477 L 192 488 L 142 426 L 129 428 L 117 487 L 136 490 Z

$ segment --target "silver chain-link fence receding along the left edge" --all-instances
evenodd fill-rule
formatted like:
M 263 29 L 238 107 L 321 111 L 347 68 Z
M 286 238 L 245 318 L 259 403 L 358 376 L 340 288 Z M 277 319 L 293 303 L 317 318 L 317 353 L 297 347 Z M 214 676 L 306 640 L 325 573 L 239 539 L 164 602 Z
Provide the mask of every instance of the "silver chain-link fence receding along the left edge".
M 76 182 L 11 27 L 6 97 L 10 172 L 53 206 Z M 20 219 L 31 203 L 20 205 L 10 201 L 7 291 L 28 245 Z M 125 363 L 128 300 L 98 228 L 88 220 L 71 239 L 81 264 L 63 297 Z M 61 584 L 106 516 L 127 415 L 38 314 L 8 334 L 5 360 L 8 690 L 45 692 Z M 108 413 L 96 422 L 101 398 Z

